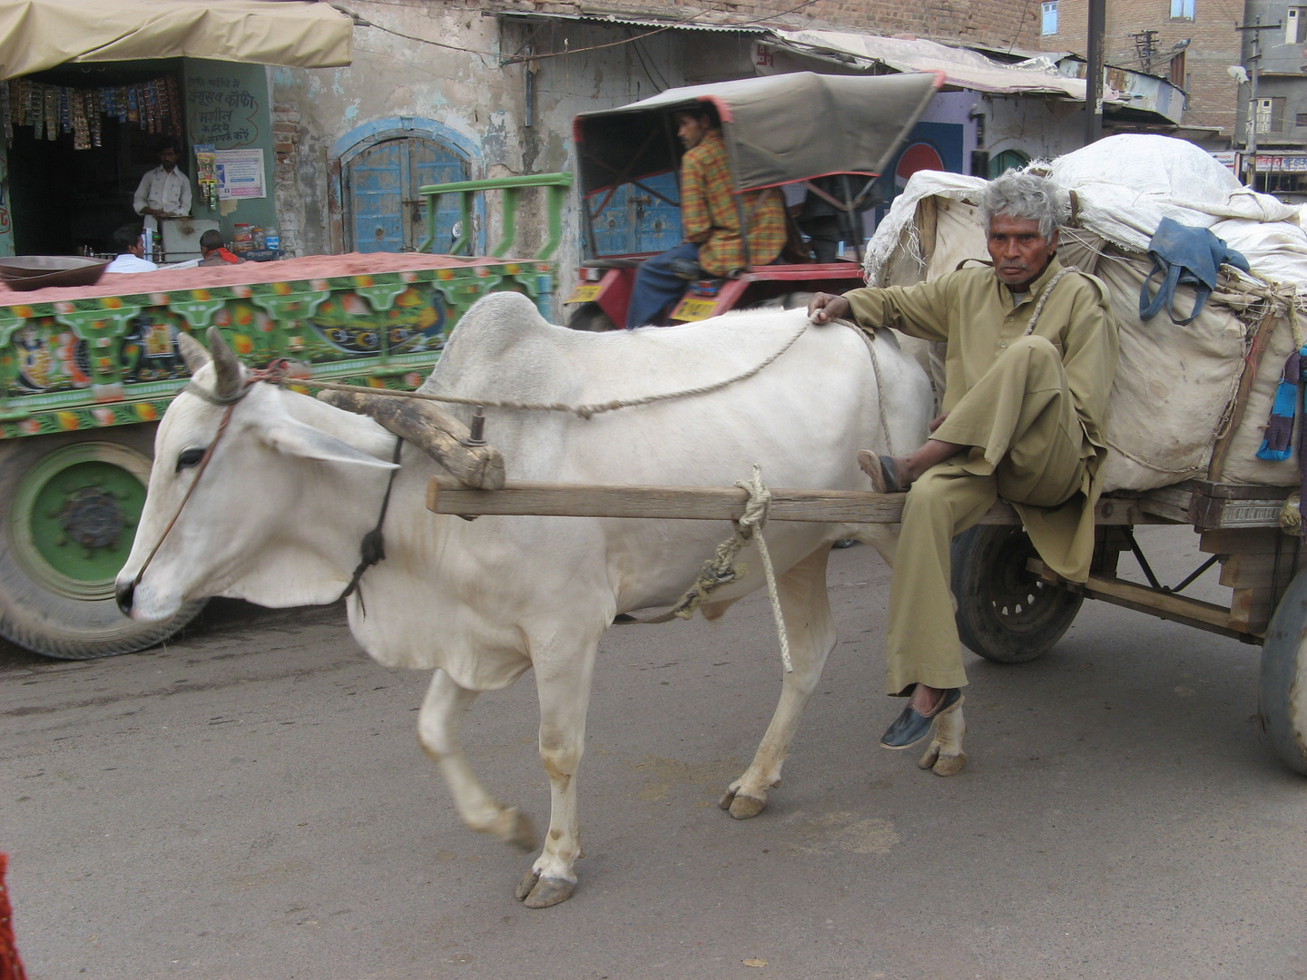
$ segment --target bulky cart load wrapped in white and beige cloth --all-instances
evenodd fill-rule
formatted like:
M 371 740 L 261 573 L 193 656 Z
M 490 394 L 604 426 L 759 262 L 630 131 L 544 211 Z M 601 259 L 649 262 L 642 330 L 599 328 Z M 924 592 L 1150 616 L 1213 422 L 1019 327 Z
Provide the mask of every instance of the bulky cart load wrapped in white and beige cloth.
M 1282 463 L 1256 457 L 1281 367 L 1295 344 L 1290 304 L 1307 325 L 1307 235 L 1297 209 L 1242 187 L 1209 154 L 1165 136 L 1114 136 L 1033 166 L 1076 192 L 1076 227 L 1064 231 L 1059 257 L 1093 269 L 1107 284 L 1120 324 L 1106 425 L 1107 489 L 1146 490 L 1208 476 L 1268 295 L 1278 315 L 1266 327 L 1270 340 L 1225 466 L 1213 476 L 1227 483 L 1297 485 L 1297 453 Z M 975 208 L 984 184 L 961 174 L 915 174 L 868 246 L 868 282 L 906 285 L 942 276 L 965 259 L 987 259 Z M 937 213 L 928 263 L 916 227 L 918 204 L 927 197 L 935 199 Z M 1252 276 L 1238 274 L 1218 287 L 1185 327 L 1165 312 L 1148 323 L 1138 319 L 1140 287 L 1151 268 L 1148 243 L 1162 217 L 1210 227 L 1252 265 Z M 1182 286 L 1176 308 L 1187 312 L 1192 304 L 1192 290 Z M 932 378 L 942 383 L 937 363 Z

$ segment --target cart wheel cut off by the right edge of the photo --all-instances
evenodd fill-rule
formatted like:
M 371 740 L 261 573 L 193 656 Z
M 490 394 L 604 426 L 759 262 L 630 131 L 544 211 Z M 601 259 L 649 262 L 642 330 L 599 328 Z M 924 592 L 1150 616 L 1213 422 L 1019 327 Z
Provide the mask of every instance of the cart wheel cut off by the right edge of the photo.
M 1307 572 L 1294 576 L 1270 617 L 1257 694 L 1276 754 L 1307 776 Z

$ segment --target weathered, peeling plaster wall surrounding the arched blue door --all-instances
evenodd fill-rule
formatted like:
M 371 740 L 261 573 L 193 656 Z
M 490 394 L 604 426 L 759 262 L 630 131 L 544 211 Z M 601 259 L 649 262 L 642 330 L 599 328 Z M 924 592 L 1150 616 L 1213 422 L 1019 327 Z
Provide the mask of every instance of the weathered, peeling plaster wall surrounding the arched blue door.
M 342 251 L 342 159 L 397 129 L 444 142 L 467 158 L 468 176 L 575 171 L 571 120 L 665 88 L 753 74 L 748 35 L 670 30 L 637 43 L 633 33 L 578 22 L 501 21 L 476 4 L 359 0 L 356 9 L 393 31 L 356 27 L 354 63 L 337 69 L 269 69 L 274 182 L 282 247 L 295 255 Z M 610 47 L 597 47 L 613 44 Z M 529 46 L 529 47 L 528 47 Z M 463 48 L 463 50 L 455 50 Z M 595 48 L 580 51 L 580 48 Z M 512 55 L 575 51 L 531 63 Z M 531 73 L 529 84 L 527 74 Z M 531 110 L 527 101 L 531 98 Z M 515 252 L 545 235 L 544 195 L 527 192 Z M 486 235 L 498 231 L 498 201 Z M 582 255 L 575 195 L 563 213 L 557 257 L 563 282 Z

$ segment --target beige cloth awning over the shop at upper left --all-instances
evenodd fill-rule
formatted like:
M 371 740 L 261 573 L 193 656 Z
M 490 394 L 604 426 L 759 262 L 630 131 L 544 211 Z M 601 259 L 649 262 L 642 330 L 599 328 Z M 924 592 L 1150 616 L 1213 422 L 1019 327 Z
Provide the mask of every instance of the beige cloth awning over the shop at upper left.
M 0 0 L 0 78 L 153 57 L 335 68 L 352 33 L 315 0 Z

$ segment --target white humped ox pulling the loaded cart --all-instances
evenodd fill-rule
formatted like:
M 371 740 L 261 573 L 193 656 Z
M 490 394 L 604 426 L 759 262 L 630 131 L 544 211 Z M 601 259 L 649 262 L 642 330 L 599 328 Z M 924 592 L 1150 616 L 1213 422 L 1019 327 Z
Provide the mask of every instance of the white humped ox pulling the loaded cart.
M 744 374 L 804 329 L 802 311 L 738 312 L 694 325 L 605 335 L 545 323 L 512 293 L 481 299 L 463 318 L 423 391 L 488 401 L 571 405 L 676 392 Z M 213 365 L 190 344 L 195 384 L 235 392 L 243 368 L 221 346 Z M 863 338 L 847 327 L 806 327 L 757 375 L 711 393 L 582 419 L 566 413 L 488 409 L 486 436 L 507 477 L 578 483 L 731 486 L 754 464 L 771 486 L 867 489 L 855 452 L 885 449 L 878 404 L 899 451 L 920 444 L 931 413 L 924 372 L 889 332 L 876 340 L 884 401 Z M 119 602 L 133 618 L 162 619 L 201 596 L 267 606 L 335 601 L 359 561 L 382 507 L 395 436 L 350 414 L 271 384 L 254 384 L 195 490 L 196 464 L 214 442 L 223 408 L 182 393 L 158 430 L 149 497 Z M 471 410 L 456 410 L 467 422 Z M 536 670 L 540 757 L 552 811 L 540 856 L 518 887 L 531 907 L 575 887 L 580 855 L 576 784 L 591 676 L 613 617 L 676 602 L 729 534 L 698 520 L 485 516 L 467 521 L 425 507 L 444 470 L 404 447 L 384 521 L 386 558 L 348 600 L 358 643 L 388 666 L 435 669 L 418 738 L 450 785 L 464 822 L 535 847 L 529 821 L 477 781 L 459 743 L 478 691 Z M 165 536 L 174 515 L 175 525 Z M 752 764 L 723 797 L 753 817 L 780 779 L 800 713 L 835 644 L 826 559 L 856 537 L 890 557 L 893 528 L 772 523 L 766 540 L 779 576 L 793 673 Z M 150 549 L 157 554 L 133 588 Z M 763 584 L 753 546 L 749 574 L 714 593 L 710 617 Z

